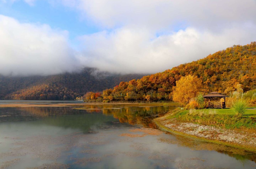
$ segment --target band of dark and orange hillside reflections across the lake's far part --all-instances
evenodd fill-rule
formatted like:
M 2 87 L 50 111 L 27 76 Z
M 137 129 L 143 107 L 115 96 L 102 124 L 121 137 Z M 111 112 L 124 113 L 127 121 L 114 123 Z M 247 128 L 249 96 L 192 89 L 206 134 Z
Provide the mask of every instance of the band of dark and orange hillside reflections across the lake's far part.
M 123 107 L 122 105 L 84 105 L 83 107 L 23 107 L 23 108 L 0 108 L 1 121 L 29 121 L 35 119 L 48 119 L 58 123 L 63 121 L 78 125 L 81 123 L 90 123 L 94 120 L 89 120 L 97 115 L 88 115 L 88 113 L 103 113 L 105 116 L 111 116 L 118 119 L 121 123 L 140 124 L 144 127 L 157 128 L 156 124 L 152 122 L 152 118 L 163 115 L 167 111 L 173 110 L 175 107 L 171 106 L 158 106 L 158 107 Z M 74 119 L 63 115 L 80 114 Z M 81 115 L 86 114 L 86 115 Z M 88 118 L 86 118 L 88 116 Z M 90 117 L 89 117 L 90 116 Z M 102 115 L 98 115 L 103 117 Z M 56 117 L 58 119 L 52 119 Z M 84 118 L 83 118 L 84 117 Z M 87 119 L 87 120 L 82 120 Z M 99 118 L 98 118 L 99 119 Z M 109 119 L 107 119 L 109 120 Z

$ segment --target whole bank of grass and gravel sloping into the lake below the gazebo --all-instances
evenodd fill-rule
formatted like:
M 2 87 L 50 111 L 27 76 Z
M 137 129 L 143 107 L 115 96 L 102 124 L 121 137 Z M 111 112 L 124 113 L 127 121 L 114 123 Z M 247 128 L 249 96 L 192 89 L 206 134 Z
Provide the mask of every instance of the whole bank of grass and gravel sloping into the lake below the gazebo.
M 256 152 L 255 116 L 255 109 L 249 109 L 242 116 L 232 109 L 175 109 L 154 122 L 170 132 Z

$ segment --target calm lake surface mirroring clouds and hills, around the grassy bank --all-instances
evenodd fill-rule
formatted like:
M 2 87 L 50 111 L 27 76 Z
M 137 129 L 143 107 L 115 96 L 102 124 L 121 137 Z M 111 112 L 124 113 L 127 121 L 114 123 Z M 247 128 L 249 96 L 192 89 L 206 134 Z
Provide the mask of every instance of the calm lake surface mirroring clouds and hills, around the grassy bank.
M 0 168 L 256 168 L 251 152 L 157 129 L 172 109 L 0 108 Z

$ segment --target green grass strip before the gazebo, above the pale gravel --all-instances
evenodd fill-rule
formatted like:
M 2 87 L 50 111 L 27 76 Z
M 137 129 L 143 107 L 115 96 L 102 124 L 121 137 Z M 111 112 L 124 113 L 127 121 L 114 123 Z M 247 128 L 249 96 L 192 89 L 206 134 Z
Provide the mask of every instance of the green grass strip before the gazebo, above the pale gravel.
M 192 122 L 213 125 L 227 129 L 248 129 L 256 132 L 256 110 L 248 109 L 242 116 L 236 116 L 232 109 L 202 109 L 171 111 L 166 119 L 178 122 Z

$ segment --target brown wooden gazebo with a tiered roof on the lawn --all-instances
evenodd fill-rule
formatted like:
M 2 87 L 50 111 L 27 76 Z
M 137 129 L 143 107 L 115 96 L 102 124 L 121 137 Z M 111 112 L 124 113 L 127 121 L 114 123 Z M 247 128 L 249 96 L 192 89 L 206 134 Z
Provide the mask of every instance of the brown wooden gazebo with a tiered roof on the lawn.
M 221 109 L 225 109 L 226 108 L 226 97 L 221 93 L 218 92 L 211 92 L 206 94 L 205 96 L 203 96 L 205 98 L 205 104 L 206 104 L 206 108 L 221 108 Z M 211 98 L 223 98 L 224 102 L 211 102 Z

